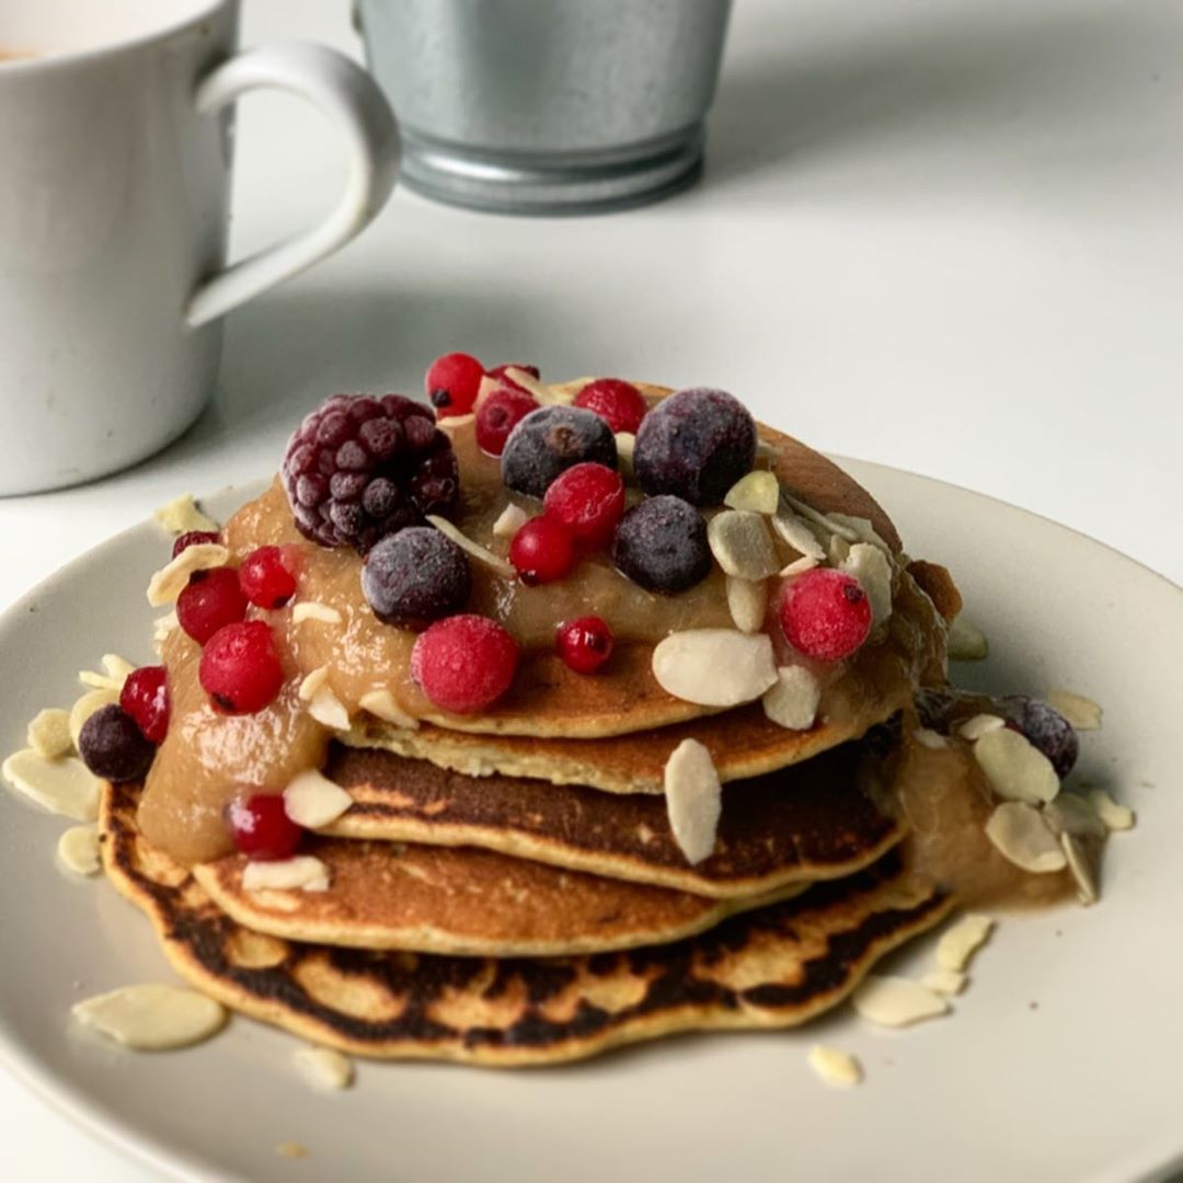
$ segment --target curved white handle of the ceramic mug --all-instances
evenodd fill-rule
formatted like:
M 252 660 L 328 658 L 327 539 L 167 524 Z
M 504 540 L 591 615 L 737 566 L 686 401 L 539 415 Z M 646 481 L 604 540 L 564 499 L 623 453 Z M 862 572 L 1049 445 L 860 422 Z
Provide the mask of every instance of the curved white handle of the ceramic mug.
M 213 115 L 240 95 L 272 86 L 319 108 L 349 144 L 345 192 L 321 222 L 232 263 L 189 298 L 186 324 L 196 329 L 340 250 L 373 221 L 394 188 L 399 129 L 377 84 L 349 58 L 322 45 L 265 45 L 215 66 L 198 84 L 198 112 Z

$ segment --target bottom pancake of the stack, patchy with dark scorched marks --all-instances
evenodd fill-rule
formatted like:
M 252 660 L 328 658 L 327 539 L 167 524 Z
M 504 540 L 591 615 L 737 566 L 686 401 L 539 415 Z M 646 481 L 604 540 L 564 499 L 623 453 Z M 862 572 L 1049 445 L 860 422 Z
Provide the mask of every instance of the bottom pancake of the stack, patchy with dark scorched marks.
M 375 953 L 237 924 L 185 867 L 137 842 L 124 788 L 108 790 L 101 828 L 108 874 L 186 981 L 302 1039 L 381 1059 L 548 1065 L 675 1032 L 795 1027 L 952 907 L 890 854 L 655 949 L 535 961 Z

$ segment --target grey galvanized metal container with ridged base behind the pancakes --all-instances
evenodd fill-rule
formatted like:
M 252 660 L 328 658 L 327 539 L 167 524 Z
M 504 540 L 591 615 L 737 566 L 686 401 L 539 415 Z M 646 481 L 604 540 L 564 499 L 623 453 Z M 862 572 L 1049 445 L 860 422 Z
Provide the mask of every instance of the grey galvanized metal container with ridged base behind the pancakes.
M 402 180 L 455 205 L 580 213 L 702 172 L 731 0 L 357 0 Z

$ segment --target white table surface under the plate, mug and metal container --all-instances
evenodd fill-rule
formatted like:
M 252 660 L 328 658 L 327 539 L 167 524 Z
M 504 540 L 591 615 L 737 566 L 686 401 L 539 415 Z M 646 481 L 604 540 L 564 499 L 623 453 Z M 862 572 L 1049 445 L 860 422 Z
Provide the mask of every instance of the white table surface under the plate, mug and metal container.
M 344 0 L 246 0 L 245 41 L 277 38 L 358 53 Z M 338 147 L 298 102 L 250 98 L 238 151 L 235 250 L 332 200 Z M 211 408 L 168 452 L 0 500 L 0 606 L 177 492 L 273 471 L 324 395 L 418 392 L 451 349 L 722 386 L 1183 582 L 1181 212 L 1177 0 L 739 0 L 697 188 L 577 220 L 397 192 L 231 317 Z M 6 1073 L 0 1129 L 6 1179 L 155 1178 Z

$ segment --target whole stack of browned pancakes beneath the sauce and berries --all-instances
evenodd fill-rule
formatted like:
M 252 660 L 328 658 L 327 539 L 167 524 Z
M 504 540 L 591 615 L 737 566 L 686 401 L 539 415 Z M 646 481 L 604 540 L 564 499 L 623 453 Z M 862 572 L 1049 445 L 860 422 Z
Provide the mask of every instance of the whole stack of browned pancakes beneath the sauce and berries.
M 108 872 L 177 970 L 347 1052 L 548 1064 L 685 1029 L 795 1026 L 946 914 L 951 898 L 901 854 L 893 723 L 943 675 L 936 603 L 956 592 L 909 567 L 848 477 L 764 437 L 800 497 L 865 519 L 899 558 L 884 635 L 814 726 L 781 728 L 758 702 L 674 699 L 641 644 L 593 678 L 526 662 L 483 716 L 363 715 L 325 767 L 353 804 L 302 851 L 328 868 L 322 891 L 247 890 L 238 854 L 186 868 L 138 834 L 137 787 L 110 786 Z M 687 738 L 724 786 L 713 852 L 693 865 L 662 796 Z

